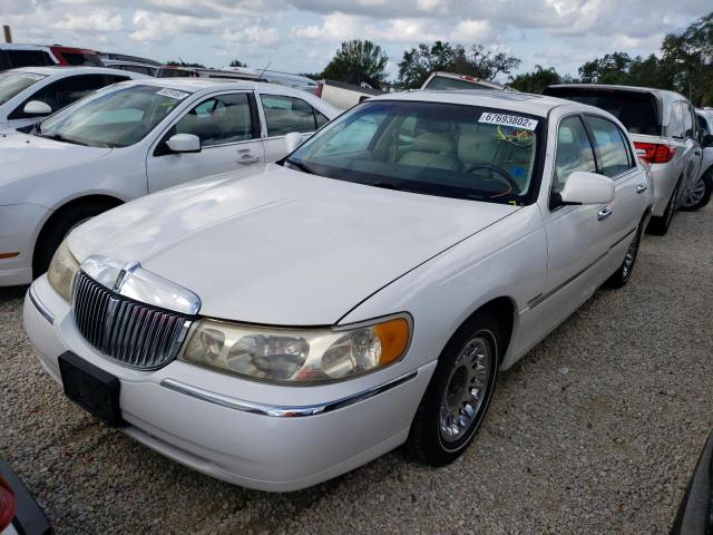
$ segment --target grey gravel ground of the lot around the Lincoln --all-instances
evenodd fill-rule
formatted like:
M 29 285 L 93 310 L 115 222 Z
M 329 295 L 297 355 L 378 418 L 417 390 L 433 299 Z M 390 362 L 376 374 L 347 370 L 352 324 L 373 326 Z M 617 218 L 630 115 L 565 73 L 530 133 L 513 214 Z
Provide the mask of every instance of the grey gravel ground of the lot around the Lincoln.
M 395 451 L 287 495 L 233 487 L 108 430 L 41 371 L 0 290 L 0 455 L 57 533 L 666 533 L 713 427 L 713 205 L 647 236 L 511 370 L 461 459 Z

